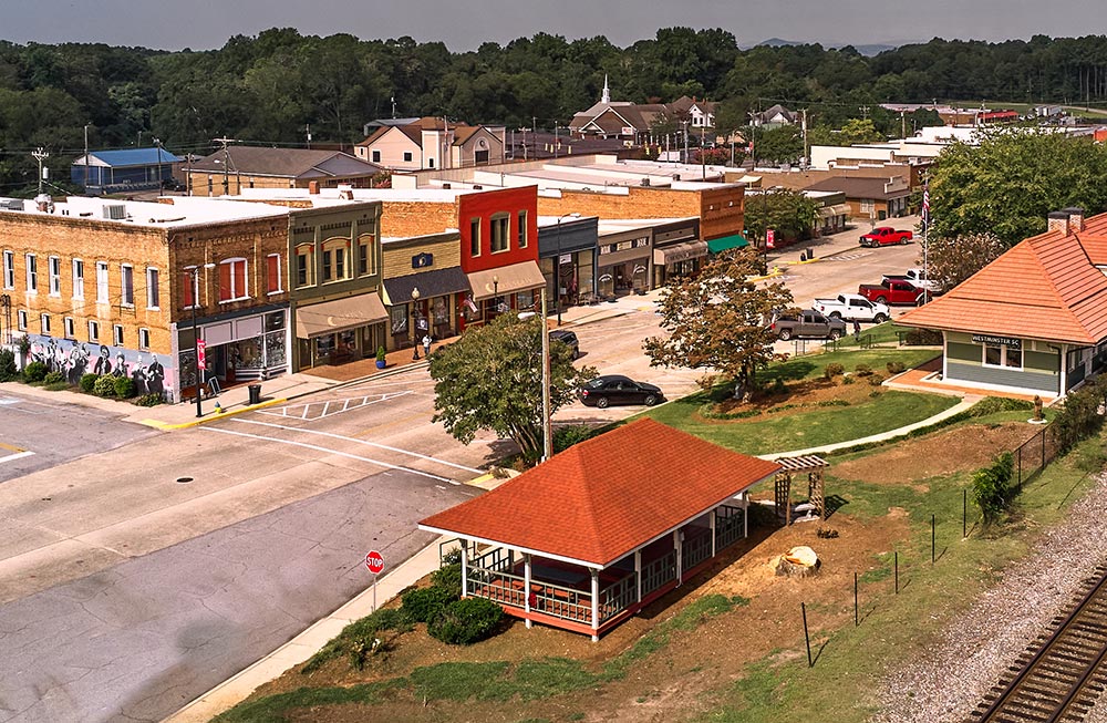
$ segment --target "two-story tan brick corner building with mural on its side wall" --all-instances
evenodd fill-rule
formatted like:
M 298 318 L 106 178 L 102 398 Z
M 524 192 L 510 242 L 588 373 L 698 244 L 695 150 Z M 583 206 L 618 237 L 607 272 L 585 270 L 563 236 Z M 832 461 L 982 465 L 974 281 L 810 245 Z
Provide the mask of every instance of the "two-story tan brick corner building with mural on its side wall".
M 4 341 L 30 340 L 24 362 L 179 401 L 196 383 L 195 317 L 223 382 L 288 370 L 289 211 L 164 200 L 0 206 Z

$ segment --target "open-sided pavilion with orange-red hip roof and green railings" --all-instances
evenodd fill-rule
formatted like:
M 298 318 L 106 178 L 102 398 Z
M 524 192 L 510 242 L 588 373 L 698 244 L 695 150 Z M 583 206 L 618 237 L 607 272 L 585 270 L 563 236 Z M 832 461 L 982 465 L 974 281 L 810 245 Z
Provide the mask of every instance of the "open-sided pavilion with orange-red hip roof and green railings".
M 592 640 L 746 536 L 780 464 L 652 420 L 577 444 L 420 523 L 462 543 L 462 595 Z

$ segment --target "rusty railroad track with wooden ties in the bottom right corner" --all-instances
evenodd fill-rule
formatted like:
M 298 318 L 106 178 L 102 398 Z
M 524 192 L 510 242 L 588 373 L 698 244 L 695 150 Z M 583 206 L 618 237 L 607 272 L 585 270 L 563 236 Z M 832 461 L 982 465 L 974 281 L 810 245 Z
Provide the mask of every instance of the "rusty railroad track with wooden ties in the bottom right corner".
M 1107 686 L 1107 566 L 1096 568 L 968 723 L 1083 721 Z

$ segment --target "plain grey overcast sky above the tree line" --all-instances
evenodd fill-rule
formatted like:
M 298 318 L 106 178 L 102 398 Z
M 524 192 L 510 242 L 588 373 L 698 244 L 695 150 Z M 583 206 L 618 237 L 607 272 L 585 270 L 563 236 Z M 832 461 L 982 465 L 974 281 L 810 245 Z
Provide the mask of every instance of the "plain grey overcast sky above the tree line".
M 1104 0 L 3 0 L 0 39 L 104 42 L 165 50 L 220 48 L 236 34 L 292 27 L 306 35 L 411 35 L 452 51 L 536 32 L 604 35 L 627 47 L 658 28 L 723 28 L 738 43 L 769 38 L 856 45 L 934 37 L 1006 40 L 1107 32 Z

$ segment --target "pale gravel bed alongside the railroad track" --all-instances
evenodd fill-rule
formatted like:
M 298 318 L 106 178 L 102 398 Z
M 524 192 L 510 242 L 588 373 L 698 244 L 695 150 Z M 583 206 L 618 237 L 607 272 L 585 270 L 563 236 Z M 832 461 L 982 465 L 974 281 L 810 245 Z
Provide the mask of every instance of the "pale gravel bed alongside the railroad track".
M 923 659 L 882 681 L 879 723 L 965 721 L 1001 673 L 1045 630 L 1080 582 L 1107 559 L 1107 474 L 1034 550 L 958 617 Z M 1107 723 L 1107 696 L 1085 719 Z

